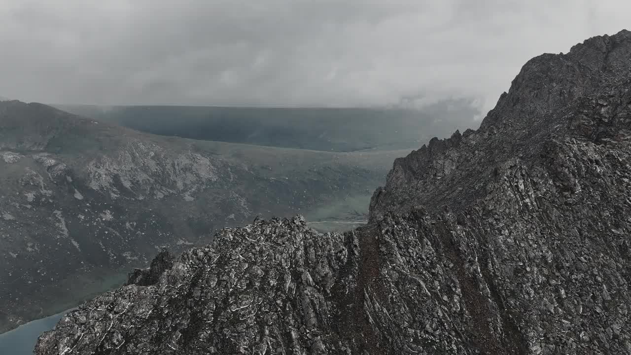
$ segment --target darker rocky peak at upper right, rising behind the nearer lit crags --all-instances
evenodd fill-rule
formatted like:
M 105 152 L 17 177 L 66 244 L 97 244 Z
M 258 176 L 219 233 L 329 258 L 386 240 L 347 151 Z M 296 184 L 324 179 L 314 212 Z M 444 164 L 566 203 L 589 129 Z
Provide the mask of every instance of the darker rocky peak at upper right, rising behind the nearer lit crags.
M 566 137 L 598 146 L 623 141 L 630 68 L 628 31 L 586 40 L 568 54 L 531 59 L 480 129 L 433 138 L 396 159 L 386 186 L 375 191 L 371 218 L 418 203 L 467 207 L 487 195 L 488 183 L 510 165 L 554 169 L 542 154 Z

